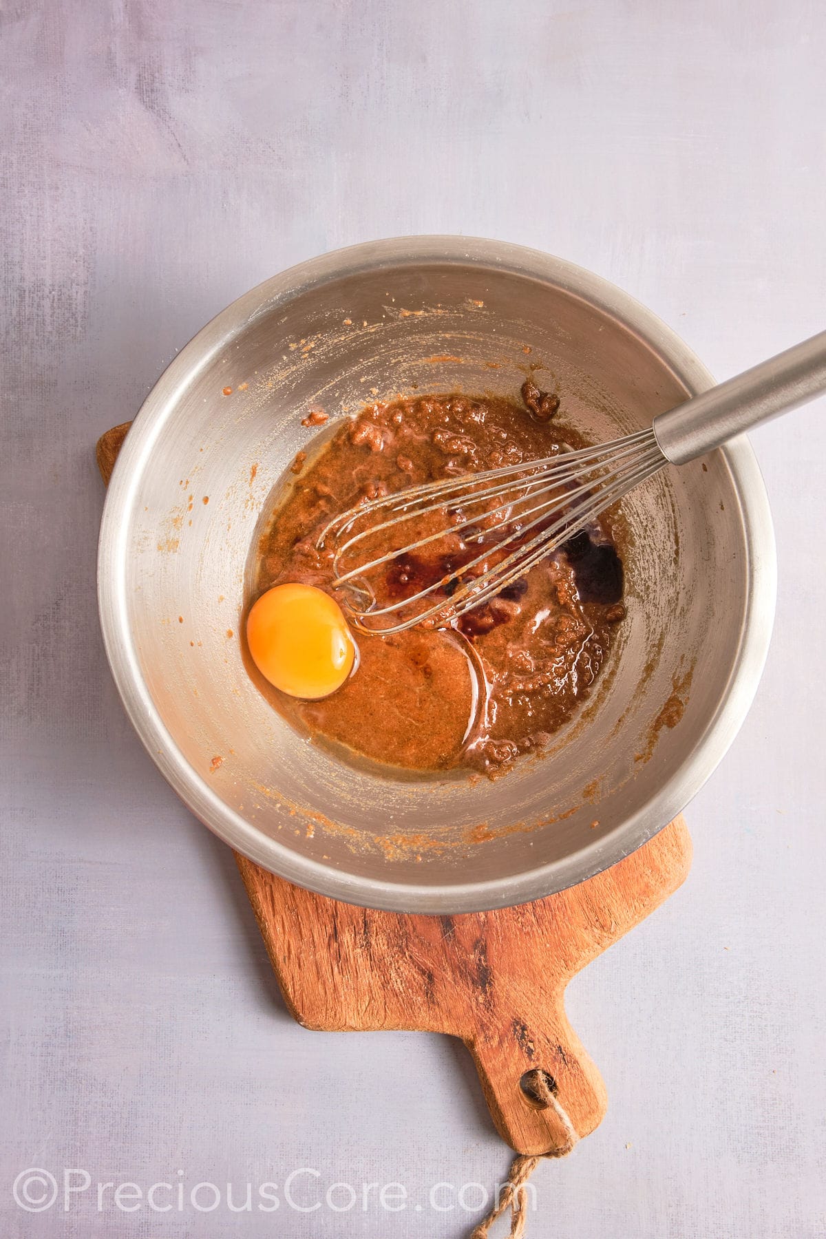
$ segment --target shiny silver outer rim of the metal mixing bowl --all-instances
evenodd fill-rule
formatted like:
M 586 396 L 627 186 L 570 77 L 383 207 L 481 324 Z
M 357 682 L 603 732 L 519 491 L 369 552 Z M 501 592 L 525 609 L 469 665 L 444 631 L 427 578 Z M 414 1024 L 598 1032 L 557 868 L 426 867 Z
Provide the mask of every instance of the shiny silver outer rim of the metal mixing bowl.
M 347 873 L 302 856 L 230 809 L 189 766 L 165 727 L 142 679 L 129 631 L 126 534 L 142 468 L 178 395 L 260 315 L 342 275 L 422 263 L 478 263 L 549 281 L 633 331 L 691 394 L 715 384 L 687 344 L 641 302 L 602 276 L 541 250 L 484 238 L 420 235 L 365 242 L 298 263 L 264 280 L 202 327 L 144 400 L 107 491 L 98 544 L 98 606 L 107 658 L 126 714 L 166 781 L 206 826 L 264 869 L 321 895 L 363 907 L 437 914 L 508 907 L 565 890 L 629 855 L 686 807 L 727 752 L 757 691 L 772 636 L 776 559 L 765 484 L 750 444 L 739 436 L 718 449 L 737 489 L 747 551 L 746 616 L 726 691 L 693 748 L 658 793 L 609 834 L 578 851 L 502 880 L 401 883 Z

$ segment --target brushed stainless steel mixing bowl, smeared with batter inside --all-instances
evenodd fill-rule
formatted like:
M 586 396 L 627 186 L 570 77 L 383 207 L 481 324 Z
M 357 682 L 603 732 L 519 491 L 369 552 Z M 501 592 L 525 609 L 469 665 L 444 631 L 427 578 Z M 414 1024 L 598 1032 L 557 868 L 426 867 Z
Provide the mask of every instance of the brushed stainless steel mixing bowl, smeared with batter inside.
M 192 812 L 293 882 L 419 912 L 537 898 L 664 826 L 743 721 L 775 593 L 744 440 L 628 498 L 620 644 L 547 756 L 505 778 L 360 772 L 292 731 L 246 674 L 250 545 L 313 434 L 308 409 L 336 415 L 415 385 L 513 396 L 529 363 L 552 373 L 565 416 L 594 440 L 648 426 L 712 383 L 596 275 L 499 242 L 415 237 L 327 254 L 240 297 L 178 354 L 126 439 L 99 551 L 115 681 Z

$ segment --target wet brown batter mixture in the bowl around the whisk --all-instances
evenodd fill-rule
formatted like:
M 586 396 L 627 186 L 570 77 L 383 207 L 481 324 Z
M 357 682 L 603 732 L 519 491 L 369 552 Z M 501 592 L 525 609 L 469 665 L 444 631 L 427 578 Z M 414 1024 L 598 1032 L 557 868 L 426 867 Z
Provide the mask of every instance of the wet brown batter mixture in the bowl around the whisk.
M 344 605 L 343 591 L 332 584 L 332 551 L 316 546 L 333 515 L 406 486 L 582 446 L 555 424 L 556 395 L 530 380 L 521 394 L 524 408 L 452 394 L 363 409 L 308 467 L 296 461 L 301 476 L 260 540 L 254 596 L 303 581 Z M 414 540 L 409 528 L 402 533 Z M 436 543 L 390 565 L 378 585 L 372 582 L 379 601 L 440 581 L 479 554 L 478 546 L 452 538 L 453 545 Z M 451 627 L 358 634 L 357 669 L 329 698 L 297 701 L 265 691 L 302 732 L 346 746 L 342 756 L 349 760 L 362 755 L 417 771 L 499 773 L 520 753 L 541 748 L 588 695 L 624 616 L 622 591 L 622 561 L 609 530 L 594 524 Z

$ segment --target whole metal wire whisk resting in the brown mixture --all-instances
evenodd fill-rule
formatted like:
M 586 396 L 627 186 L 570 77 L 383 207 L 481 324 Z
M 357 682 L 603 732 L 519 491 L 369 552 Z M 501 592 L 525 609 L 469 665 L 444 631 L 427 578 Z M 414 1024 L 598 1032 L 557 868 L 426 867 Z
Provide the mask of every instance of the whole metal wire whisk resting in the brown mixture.
M 506 590 L 666 465 L 703 456 L 825 389 L 821 332 L 660 414 L 648 430 L 362 502 L 324 527 L 318 546 L 333 546 L 333 584 L 347 586 L 362 632 L 451 623 Z M 385 584 L 390 571 L 415 592 L 378 597 L 372 577 L 383 569 Z M 424 577 L 419 590 L 417 576 Z

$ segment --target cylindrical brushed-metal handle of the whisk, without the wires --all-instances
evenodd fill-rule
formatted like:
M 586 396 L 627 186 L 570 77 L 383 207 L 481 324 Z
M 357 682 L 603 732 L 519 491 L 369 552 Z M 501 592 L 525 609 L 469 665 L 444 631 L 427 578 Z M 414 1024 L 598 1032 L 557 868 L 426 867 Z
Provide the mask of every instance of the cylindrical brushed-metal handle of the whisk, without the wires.
M 826 331 L 654 419 L 660 450 L 685 465 L 826 392 Z

